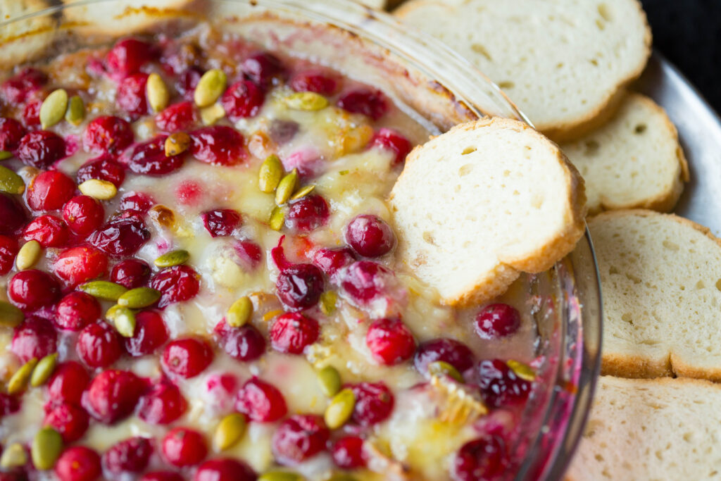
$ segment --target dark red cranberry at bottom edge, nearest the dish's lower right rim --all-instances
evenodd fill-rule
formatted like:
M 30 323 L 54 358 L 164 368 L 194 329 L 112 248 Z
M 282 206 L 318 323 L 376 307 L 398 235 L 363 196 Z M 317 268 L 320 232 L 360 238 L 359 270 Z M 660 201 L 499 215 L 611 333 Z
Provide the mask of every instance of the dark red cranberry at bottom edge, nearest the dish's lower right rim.
M 469 441 L 459 450 L 451 467 L 454 481 L 495 480 L 506 468 L 505 444 L 498 436 Z

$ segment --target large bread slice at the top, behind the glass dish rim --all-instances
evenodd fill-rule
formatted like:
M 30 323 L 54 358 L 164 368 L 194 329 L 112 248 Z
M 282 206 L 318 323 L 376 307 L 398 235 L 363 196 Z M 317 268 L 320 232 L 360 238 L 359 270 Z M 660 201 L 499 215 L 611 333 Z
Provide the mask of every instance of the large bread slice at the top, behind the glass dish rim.
M 555 141 L 608 119 L 651 51 L 637 0 L 413 0 L 394 13 L 472 61 Z

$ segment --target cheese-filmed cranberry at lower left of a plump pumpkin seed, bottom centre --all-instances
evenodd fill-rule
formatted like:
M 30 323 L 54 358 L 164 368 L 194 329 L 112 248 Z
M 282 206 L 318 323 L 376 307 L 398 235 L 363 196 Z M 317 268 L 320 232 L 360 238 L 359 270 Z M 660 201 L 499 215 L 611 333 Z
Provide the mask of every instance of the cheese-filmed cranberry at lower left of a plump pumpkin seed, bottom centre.
M 329 437 L 323 418 L 297 414 L 280 423 L 273 434 L 273 455 L 280 464 L 298 464 L 325 451 Z

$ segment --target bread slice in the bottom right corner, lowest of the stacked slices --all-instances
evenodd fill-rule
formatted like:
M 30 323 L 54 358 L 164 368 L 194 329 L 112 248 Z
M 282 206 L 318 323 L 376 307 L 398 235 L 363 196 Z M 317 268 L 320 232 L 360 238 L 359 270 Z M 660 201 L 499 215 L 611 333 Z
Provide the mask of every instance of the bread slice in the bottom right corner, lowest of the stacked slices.
M 721 386 L 601 376 L 566 481 L 717 480 Z

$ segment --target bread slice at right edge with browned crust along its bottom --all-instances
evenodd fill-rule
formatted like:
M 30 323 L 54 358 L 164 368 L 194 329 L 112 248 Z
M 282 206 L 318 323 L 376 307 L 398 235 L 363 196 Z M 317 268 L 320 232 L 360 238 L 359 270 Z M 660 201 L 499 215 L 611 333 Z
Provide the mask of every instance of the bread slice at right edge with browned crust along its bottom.
M 721 381 L 721 241 L 672 214 L 588 221 L 603 293 L 601 372 Z

